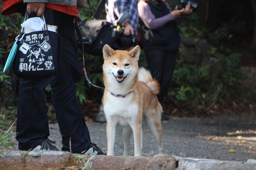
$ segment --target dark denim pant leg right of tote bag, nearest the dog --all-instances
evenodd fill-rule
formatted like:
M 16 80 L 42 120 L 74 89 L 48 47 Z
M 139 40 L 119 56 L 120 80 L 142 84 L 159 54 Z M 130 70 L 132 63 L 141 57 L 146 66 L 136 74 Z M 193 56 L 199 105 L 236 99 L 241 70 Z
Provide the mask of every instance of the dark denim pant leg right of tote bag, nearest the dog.
M 77 101 L 75 82 L 81 77 L 73 16 L 56 12 L 58 72 L 51 83 L 53 106 L 62 136 L 62 151 L 80 153 L 91 145 L 88 127 Z M 52 17 L 52 16 L 51 16 Z

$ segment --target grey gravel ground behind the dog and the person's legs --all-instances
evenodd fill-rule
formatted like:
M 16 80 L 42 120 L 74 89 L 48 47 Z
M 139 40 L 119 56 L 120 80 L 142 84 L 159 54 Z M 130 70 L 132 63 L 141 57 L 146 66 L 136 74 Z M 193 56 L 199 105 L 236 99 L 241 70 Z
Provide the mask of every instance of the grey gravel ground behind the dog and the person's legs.
M 91 140 L 107 152 L 106 124 L 89 123 Z M 228 161 L 256 159 L 256 115 L 218 116 L 207 118 L 170 117 L 162 122 L 164 154 Z M 57 124 L 50 124 L 50 139 L 61 149 L 61 136 Z M 122 127 L 117 127 L 115 155 L 123 154 Z M 157 153 L 154 138 L 143 124 L 143 156 Z M 130 155 L 134 155 L 131 138 Z

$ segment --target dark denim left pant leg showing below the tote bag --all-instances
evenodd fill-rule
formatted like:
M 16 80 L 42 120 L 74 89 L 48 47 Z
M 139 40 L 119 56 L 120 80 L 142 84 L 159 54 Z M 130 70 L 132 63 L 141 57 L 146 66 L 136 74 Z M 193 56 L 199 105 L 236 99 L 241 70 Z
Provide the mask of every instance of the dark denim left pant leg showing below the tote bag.
M 49 136 L 45 87 L 49 79 L 20 79 L 16 139 L 19 150 L 29 150 Z

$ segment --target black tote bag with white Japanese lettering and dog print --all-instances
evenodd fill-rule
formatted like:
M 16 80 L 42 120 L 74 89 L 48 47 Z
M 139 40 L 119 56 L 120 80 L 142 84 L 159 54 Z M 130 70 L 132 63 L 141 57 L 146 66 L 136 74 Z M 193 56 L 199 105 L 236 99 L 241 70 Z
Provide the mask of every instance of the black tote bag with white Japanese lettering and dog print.
M 28 19 L 26 12 L 24 21 Z M 24 33 L 18 36 L 18 47 L 13 61 L 13 72 L 18 78 L 42 79 L 52 76 L 57 71 L 58 33 L 49 31 L 45 22 L 42 31 Z

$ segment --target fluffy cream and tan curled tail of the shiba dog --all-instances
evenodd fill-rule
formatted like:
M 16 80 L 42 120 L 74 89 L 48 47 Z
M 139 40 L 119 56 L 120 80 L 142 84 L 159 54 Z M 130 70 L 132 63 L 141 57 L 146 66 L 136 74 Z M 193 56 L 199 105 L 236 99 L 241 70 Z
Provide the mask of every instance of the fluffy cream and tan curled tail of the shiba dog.
M 157 80 L 152 78 L 149 70 L 146 70 L 145 68 L 140 67 L 138 79 L 139 81 L 146 83 L 146 85 L 150 87 L 151 91 L 154 94 L 159 93 L 159 90 L 160 90 L 159 83 Z

